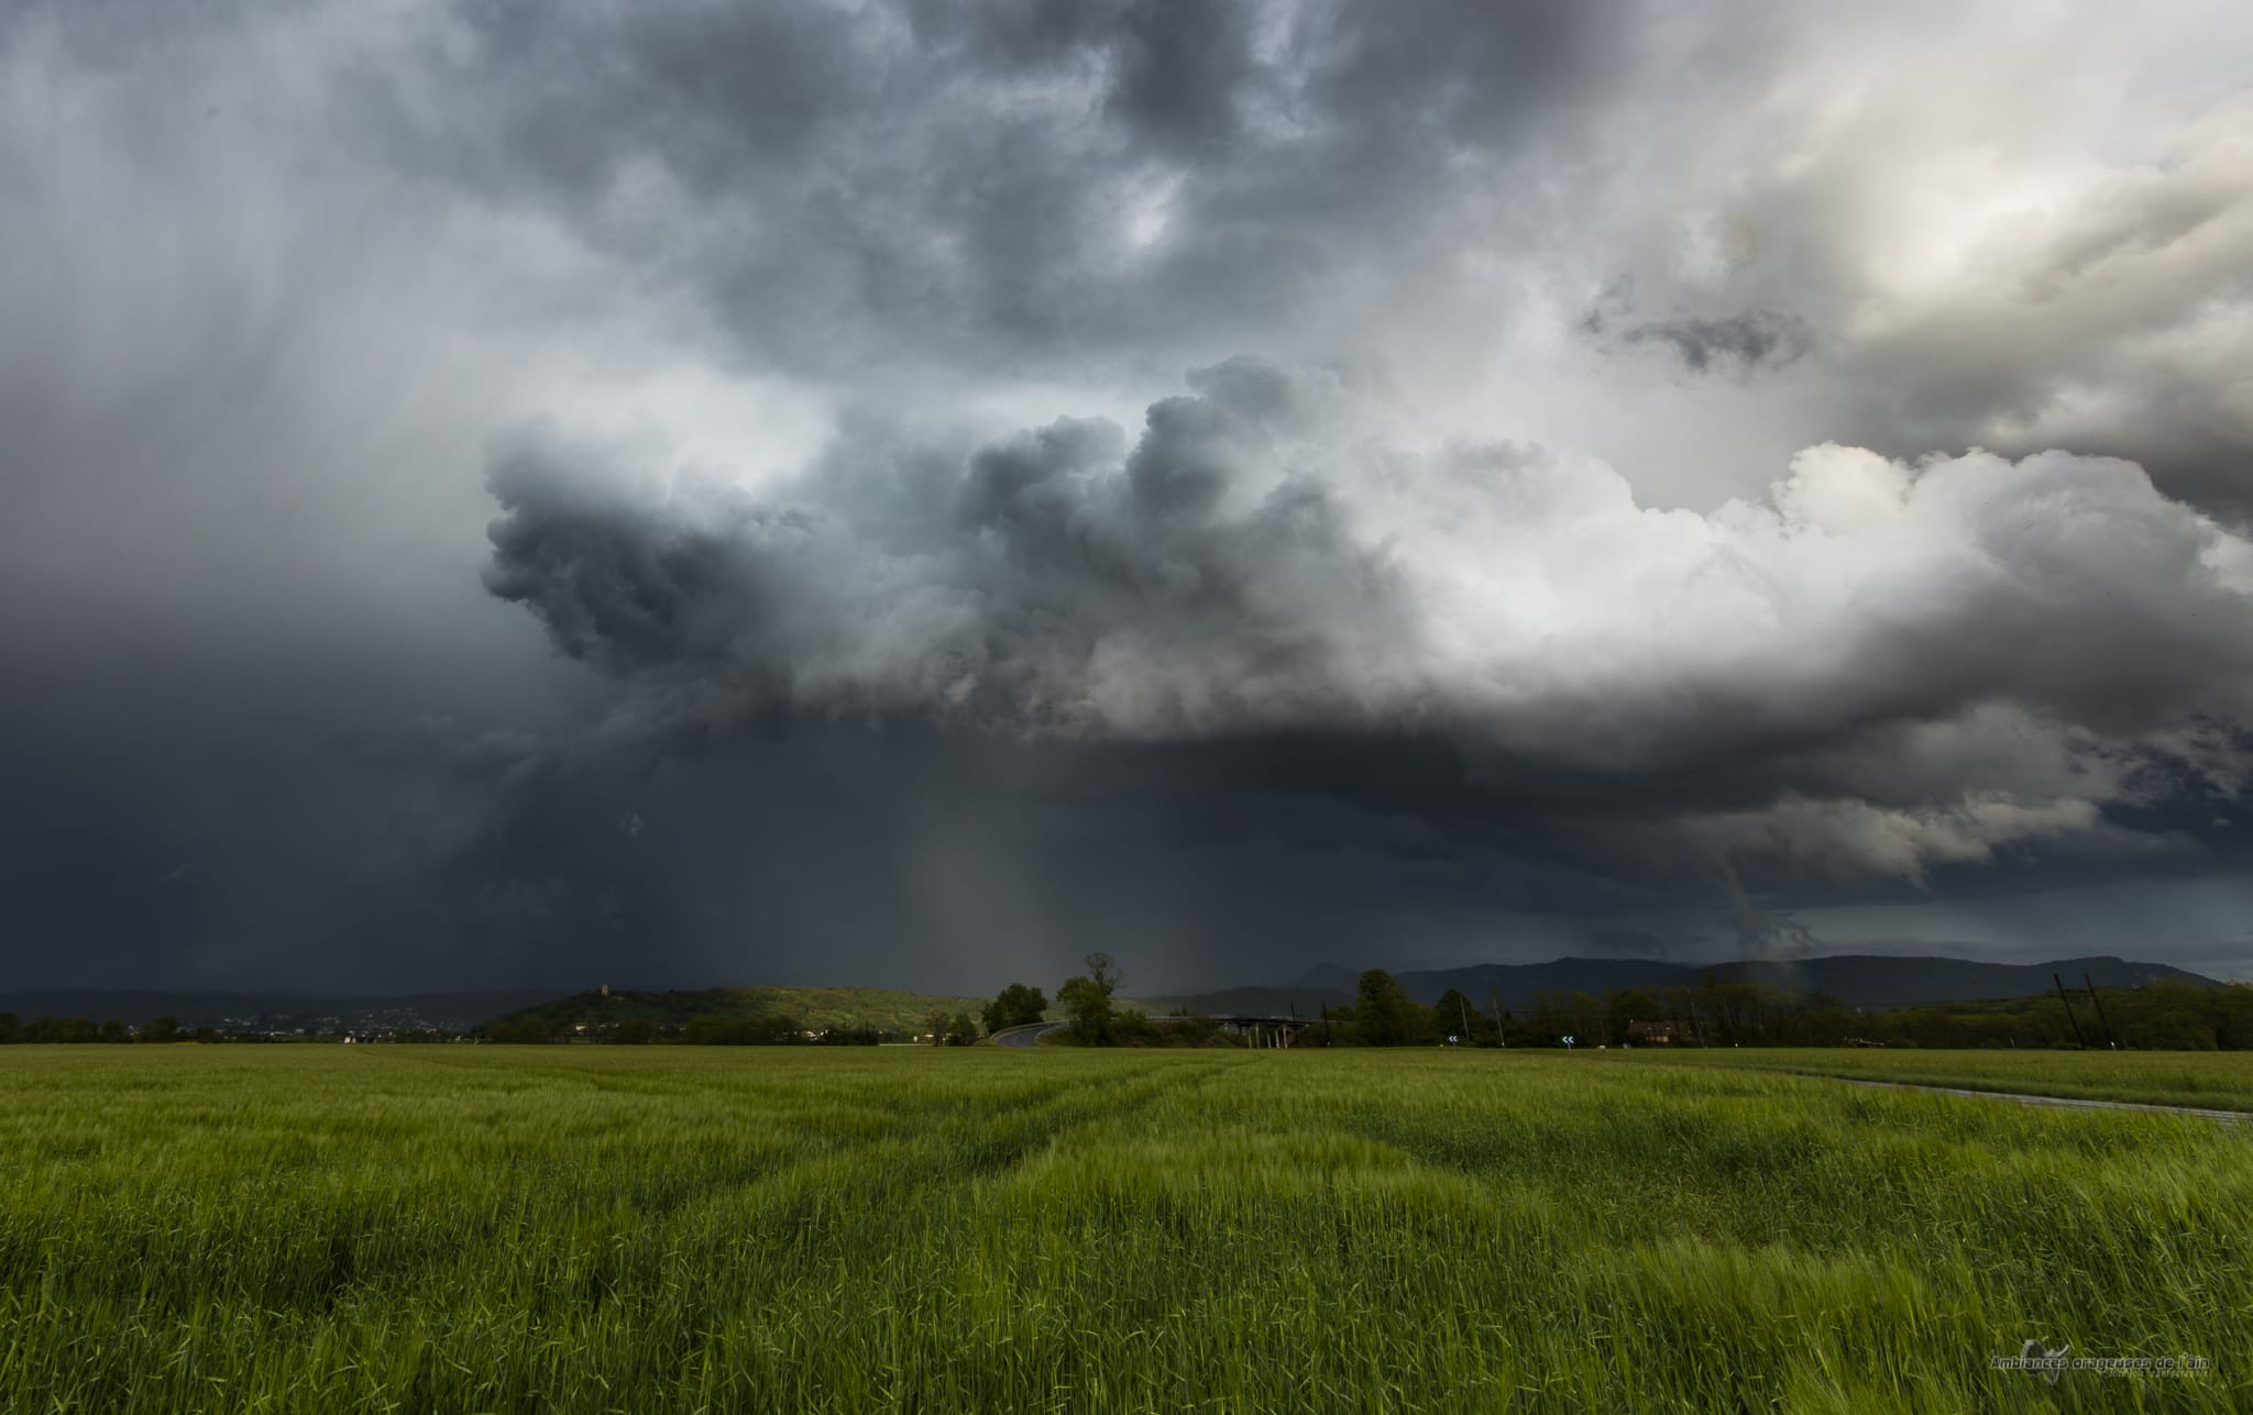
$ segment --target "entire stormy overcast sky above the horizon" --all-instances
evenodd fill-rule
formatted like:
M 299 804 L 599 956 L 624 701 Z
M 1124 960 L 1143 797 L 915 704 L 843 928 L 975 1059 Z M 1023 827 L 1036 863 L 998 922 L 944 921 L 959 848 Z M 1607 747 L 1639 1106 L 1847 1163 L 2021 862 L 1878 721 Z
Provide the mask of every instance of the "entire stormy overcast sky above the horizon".
M 2253 16 L 0 2 L 0 987 L 2253 976 Z

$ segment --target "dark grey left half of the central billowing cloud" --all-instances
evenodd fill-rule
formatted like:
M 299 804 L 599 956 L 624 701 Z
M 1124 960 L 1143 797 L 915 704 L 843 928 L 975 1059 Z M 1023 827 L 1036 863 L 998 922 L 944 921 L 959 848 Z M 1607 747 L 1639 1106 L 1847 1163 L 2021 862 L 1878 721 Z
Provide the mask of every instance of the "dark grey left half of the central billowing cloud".
M 1388 557 L 1275 460 L 1334 388 L 1250 361 L 1194 383 L 1131 451 L 1106 421 L 978 451 L 946 516 L 897 548 L 863 529 L 870 511 L 899 520 L 881 505 L 671 498 L 518 442 L 491 473 L 507 516 L 487 586 L 566 653 L 678 687 L 669 710 L 1172 732 L 1302 708 L 1327 726 L 1325 685 L 1410 631 Z M 1266 484 L 1248 489 L 1248 466 Z

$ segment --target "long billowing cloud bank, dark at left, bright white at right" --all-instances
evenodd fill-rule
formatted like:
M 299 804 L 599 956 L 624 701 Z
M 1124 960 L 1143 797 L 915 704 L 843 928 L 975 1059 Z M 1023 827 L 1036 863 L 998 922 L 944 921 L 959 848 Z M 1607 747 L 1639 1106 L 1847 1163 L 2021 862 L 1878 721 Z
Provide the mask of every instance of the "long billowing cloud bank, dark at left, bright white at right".
M 2253 545 L 2129 464 L 1814 448 L 1701 518 L 1539 451 L 1392 446 L 1336 376 L 1192 388 L 1133 446 L 1059 421 L 973 453 L 912 545 L 825 480 L 671 496 L 525 442 L 489 586 L 629 685 L 620 735 L 1124 744 L 1167 791 L 1606 872 L 2134 852 L 2109 807 L 2235 791 L 2242 744 L 2199 714 L 2253 689 Z

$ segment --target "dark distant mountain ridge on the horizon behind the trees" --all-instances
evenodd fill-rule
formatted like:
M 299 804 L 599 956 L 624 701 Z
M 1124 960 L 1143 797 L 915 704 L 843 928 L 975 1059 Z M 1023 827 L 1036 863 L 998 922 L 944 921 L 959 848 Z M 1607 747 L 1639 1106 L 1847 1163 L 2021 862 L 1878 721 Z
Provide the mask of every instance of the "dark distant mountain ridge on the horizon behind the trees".
M 1766 982 L 1789 991 L 1827 991 L 1850 1007 L 1922 1007 L 1929 1003 L 1974 1003 L 1985 998 L 2025 998 L 2050 991 L 2050 976 L 2080 987 L 2089 973 L 2098 987 L 2145 987 L 2149 982 L 2185 982 L 2224 987 L 2165 962 L 2131 962 L 2125 958 L 2057 958 L 2050 962 L 1974 962 L 1969 958 L 1904 958 L 1886 953 L 1832 953 L 1800 960 L 1735 962 L 1663 962 L 1656 958 L 1557 958 L 1552 962 L 1482 962 L 1464 969 L 1395 973 L 1408 996 L 1431 1005 L 1451 987 L 1473 1003 L 1485 1003 L 1489 989 L 1500 989 L 1503 1007 L 1530 1007 L 1541 991 L 1584 991 L 1602 996 L 1629 987 L 1697 987 L 1703 980 Z M 1228 994 L 1273 994 L 1350 1000 L 1361 980 L 1356 969 L 1320 964 L 1280 989 L 1230 989 Z M 1196 998 L 1190 998 L 1194 1005 Z

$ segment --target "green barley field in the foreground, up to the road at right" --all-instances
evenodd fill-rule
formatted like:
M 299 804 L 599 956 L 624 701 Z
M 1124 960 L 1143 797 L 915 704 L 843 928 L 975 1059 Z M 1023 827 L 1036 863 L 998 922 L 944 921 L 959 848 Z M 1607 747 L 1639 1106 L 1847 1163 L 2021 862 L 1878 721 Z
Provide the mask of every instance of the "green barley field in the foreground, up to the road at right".
M 5 1048 L 0 1408 L 2244 1410 L 2246 1131 L 1588 1054 Z

